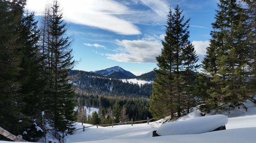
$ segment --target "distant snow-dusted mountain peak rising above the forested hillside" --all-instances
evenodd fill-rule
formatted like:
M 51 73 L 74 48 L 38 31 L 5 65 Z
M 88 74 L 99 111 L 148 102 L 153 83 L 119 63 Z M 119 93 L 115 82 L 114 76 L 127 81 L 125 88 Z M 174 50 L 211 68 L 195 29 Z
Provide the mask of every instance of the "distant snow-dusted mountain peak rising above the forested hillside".
M 133 73 L 124 70 L 123 68 L 119 66 L 107 68 L 104 70 L 95 71 L 94 73 L 110 77 L 110 78 L 116 78 L 116 79 L 130 79 L 130 78 L 136 78 L 136 75 Z

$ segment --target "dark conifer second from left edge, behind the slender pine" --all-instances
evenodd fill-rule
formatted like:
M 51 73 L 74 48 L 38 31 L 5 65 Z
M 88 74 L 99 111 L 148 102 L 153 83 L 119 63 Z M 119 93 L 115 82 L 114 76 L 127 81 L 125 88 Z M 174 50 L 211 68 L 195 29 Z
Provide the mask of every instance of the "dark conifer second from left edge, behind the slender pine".
M 39 53 L 39 31 L 37 22 L 34 20 L 34 14 L 27 13 L 23 16 L 20 25 L 19 41 L 23 42 L 21 50 L 22 61 L 19 73 L 21 81 L 20 93 L 23 94 L 25 107 L 23 113 L 32 119 L 41 117 L 41 98 L 45 89 L 45 81 L 41 77 L 41 59 Z

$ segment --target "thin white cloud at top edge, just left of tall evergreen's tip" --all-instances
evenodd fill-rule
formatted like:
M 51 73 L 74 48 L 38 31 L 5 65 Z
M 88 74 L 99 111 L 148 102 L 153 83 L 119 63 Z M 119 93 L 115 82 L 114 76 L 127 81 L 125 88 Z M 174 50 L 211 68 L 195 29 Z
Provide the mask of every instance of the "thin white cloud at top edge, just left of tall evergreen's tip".
M 140 0 L 144 5 L 150 7 L 161 17 L 166 17 L 169 11 L 169 6 L 165 1 L 156 0 Z

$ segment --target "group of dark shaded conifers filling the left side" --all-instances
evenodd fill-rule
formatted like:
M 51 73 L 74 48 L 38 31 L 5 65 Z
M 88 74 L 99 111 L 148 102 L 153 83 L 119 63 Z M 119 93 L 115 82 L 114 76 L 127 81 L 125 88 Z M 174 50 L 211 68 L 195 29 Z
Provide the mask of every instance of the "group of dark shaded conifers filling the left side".
M 40 28 L 25 6 L 0 1 L 0 126 L 29 141 L 49 131 L 59 138 L 75 120 L 70 38 L 57 1 L 46 6 Z

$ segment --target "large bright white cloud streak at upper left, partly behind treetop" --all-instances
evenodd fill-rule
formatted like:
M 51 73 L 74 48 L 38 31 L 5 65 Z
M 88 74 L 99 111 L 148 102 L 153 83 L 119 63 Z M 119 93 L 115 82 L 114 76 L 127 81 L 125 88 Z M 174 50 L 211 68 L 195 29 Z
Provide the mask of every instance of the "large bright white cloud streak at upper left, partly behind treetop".
M 50 0 L 28 0 L 26 8 L 40 15 Z M 111 0 L 59 1 L 63 15 L 68 22 L 93 26 L 120 35 L 139 35 L 139 28 L 132 22 L 119 18 L 118 14 L 133 13 L 125 5 Z

